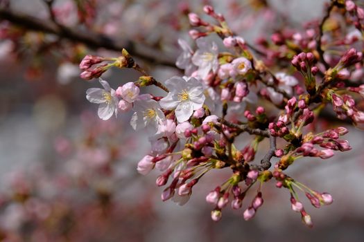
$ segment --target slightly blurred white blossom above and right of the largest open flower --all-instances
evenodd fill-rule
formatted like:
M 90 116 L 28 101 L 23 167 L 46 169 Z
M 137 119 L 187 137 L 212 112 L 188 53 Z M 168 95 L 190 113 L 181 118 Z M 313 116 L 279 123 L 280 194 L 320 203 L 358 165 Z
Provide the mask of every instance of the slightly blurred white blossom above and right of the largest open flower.
M 198 75 L 205 79 L 209 72 L 218 71 L 218 46 L 205 37 L 196 40 L 198 50 L 193 54 L 192 63 L 198 66 Z

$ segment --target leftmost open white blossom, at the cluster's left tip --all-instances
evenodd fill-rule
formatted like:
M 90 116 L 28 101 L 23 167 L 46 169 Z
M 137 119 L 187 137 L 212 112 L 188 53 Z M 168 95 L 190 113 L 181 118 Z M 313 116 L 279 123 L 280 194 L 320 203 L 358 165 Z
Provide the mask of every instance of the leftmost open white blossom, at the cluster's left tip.
M 102 120 L 108 120 L 112 114 L 117 115 L 118 98 L 116 97 L 115 90 L 110 88 L 110 85 L 100 79 L 99 82 L 103 85 L 104 89 L 92 88 L 87 89 L 86 98 L 89 102 L 100 104 L 98 106 L 98 117 Z

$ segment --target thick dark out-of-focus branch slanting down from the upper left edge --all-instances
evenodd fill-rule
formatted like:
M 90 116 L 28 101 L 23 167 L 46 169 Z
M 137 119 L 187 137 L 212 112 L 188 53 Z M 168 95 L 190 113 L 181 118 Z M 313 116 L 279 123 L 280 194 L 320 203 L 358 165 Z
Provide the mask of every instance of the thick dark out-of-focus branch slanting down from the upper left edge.
M 160 53 L 159 55 L 151 56 L 146 55 L 145 51 L 137 50 L 135 43 L 132 41 L 128 41 L 127 44 L 122 46 L 118 42 L 105 35 L 72 29 L 66 26 L 60 26 L 59 24 L 55 24 L 52 21 L 37 19 L 35 17 L 24 15 L 20 12 L 11 11 L 8 9 L 0 9 L 0 19 L 10 21 L 12 24 L 25 28 L 26 30 L 49 33 L 57 35 L 62 39 L 80 42 L 89 46 L 89 48 L 106 48 L 108 50 L 115 51 L 121 51 L 123 48 L 125 48 L 132 56 L 143 59 L 146 62 L 175 67 L 174 62 L 161 58 Z

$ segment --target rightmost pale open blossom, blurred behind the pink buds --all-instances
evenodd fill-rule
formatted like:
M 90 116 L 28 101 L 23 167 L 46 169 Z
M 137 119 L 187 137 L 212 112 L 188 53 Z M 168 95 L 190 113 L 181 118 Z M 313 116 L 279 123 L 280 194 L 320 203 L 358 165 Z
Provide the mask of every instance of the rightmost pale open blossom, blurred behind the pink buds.
M 275 74 L 275 77 L 277 77 L 278 80 L 278 88 L 281 91 L 285 91 L 288 95 L 293 95 L 293 86 L 298 84 L 297 79 L 291 75 L 287 75 L 286 73 L 277 73 Z M 271 84 L 274 83 L 272 78 L 269 82 Z M 277 93 L 272 87 L 268 87 L 267 91 L 270 100 L 272 100 L 274 104 L 281 104 L 283 101 L 283 95 L 281 93 Z

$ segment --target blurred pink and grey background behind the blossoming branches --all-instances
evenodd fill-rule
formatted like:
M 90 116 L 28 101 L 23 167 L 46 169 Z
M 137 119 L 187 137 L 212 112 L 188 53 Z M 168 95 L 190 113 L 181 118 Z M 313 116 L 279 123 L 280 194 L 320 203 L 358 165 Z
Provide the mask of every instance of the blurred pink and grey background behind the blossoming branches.
M 364 136 L 354 128 L 345 136 L 352 151 L 329 160 L 302 159 L 288 171 L 335 199 L 320 210 L 305 203 L 312 229 L 291 210 L 288 192 L 274 184 L 264 187 L 264 205 L 252 221 L 243 220 L 243 210 L 228 208 L 214 223 L 205 196 L 228 176 L 223 172 L 204 177 L 184 206 L 162 202 L 158 172 L 137 174 L 150 144 L 131 129 L 131 113 L 99 120 L 85 91 L 100 85 L 78 77 L 85 55 L 116 57 L 119 51 L 33 31 L 28 17 L 54 26 L 46 2 L 0 1 L 1 241 L 364 241 Z M 215 6 L 254 43 L 274 26 L 320 19 L 325 2 L 56 0 L 52 8 L 56 22 L 103 35 L 103 43 L 113 39 L 116 48 L 130 47 L 141 66 L 166 80 L 182 75 L 173 64 L 177 39 L 192 42 L 189 10 Z M 130 70 L 106 74 L 114 89 L 139 77 Z

